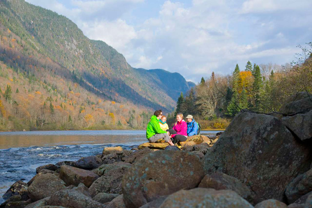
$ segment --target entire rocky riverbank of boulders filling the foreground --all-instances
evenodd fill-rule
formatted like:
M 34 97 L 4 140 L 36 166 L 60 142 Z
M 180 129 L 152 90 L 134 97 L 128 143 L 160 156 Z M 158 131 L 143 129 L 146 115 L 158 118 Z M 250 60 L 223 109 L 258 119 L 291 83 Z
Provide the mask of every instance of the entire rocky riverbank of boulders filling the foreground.
M 41 166 L 0 207 L 312 207 L 312 95 L 242 111 L 220 134 Z

